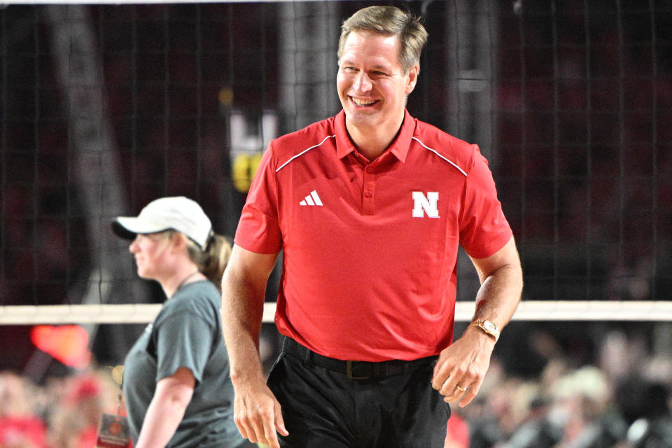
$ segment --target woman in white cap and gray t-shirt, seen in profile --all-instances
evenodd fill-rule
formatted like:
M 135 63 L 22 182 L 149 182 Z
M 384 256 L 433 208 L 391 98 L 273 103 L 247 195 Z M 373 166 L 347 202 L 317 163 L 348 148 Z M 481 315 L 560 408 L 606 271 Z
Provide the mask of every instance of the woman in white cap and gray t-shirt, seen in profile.
M 138 275 L 167 302 L 124 363 L 123 393 L 135 448 L 253 446 L 233 421 L 233 389 L 216 285 L 230 245 L 197 202 L 162 197 L 113 231 L 132 239 Z

